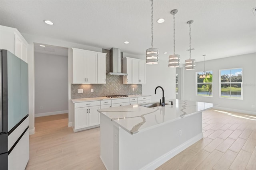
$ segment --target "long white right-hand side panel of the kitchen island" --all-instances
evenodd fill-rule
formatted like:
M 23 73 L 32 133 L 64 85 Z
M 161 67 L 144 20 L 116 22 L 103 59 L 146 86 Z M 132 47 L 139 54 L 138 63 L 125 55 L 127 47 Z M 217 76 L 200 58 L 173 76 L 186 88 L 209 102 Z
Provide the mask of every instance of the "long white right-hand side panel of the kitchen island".
M 120 169 L 155 169 L 203 137 L 202 112 L 134 135 L 120 128 L 118 137 Z

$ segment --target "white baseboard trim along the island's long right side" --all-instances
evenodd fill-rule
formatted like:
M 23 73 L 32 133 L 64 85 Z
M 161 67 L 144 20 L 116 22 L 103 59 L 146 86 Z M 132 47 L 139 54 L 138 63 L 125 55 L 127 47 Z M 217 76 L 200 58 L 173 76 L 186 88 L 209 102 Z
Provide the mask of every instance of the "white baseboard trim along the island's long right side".
M 202 138 L 203 138 L 203 133 L 200 133 L 200 134 L 194 136 L 190 140 L 184 142 L 180 146 L 174 148 L 173 150 L 162 155 L 161 157 L 157 158 L 156 160 L 150 162 L 149 164 L 147 164 L 146 166 L 144 166 L 141 169 L 142 170 L 154 170 L 154 169 L 158 168 L 160 165 L 164 164 L 166 161 L 170 160 L 172 157 L 174 157 L 178 153 L 182 152 L 183 150 L 185 150 L 186 148 L 188 148 L 189 146 L 196 143 L 198 140 L 200 140 Z

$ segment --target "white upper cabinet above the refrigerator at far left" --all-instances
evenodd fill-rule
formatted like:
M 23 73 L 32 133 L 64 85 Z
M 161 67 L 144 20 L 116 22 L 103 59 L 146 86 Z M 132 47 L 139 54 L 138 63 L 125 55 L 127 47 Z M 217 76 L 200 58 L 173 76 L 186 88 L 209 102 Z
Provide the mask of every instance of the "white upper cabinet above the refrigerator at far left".
M 0 49 L 10 51 L 27 62 L 28 42 L 16 28 L 0 26 Z

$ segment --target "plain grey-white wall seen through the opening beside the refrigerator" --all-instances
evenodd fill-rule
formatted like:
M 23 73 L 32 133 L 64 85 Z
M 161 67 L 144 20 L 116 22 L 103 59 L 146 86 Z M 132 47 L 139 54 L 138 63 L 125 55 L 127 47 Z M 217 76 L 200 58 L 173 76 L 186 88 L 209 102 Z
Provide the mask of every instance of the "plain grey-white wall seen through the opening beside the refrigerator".
M 67 92 L 68 52 L 66 56 L 35 52 L 35 117 L 68 113 Z

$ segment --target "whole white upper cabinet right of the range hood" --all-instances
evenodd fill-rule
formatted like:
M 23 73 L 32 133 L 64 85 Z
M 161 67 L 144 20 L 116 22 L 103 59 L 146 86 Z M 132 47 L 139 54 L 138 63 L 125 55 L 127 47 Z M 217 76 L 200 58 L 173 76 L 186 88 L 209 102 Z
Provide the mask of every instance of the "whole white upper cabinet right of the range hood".
M 146 83 L 146 61 L 126 57 L 123 60 L 123 84 L 145 84 Z

